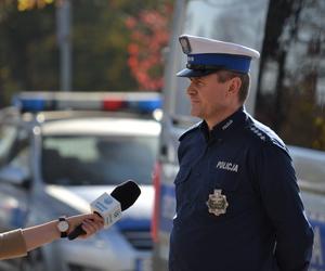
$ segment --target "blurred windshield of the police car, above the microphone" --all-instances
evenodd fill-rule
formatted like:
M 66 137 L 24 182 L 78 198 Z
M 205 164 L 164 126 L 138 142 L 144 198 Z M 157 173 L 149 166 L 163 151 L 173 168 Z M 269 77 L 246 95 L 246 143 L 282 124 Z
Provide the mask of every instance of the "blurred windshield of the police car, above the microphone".
M 47 136 L 42 177 L 61 185 L 150 184 L 158 137 Z

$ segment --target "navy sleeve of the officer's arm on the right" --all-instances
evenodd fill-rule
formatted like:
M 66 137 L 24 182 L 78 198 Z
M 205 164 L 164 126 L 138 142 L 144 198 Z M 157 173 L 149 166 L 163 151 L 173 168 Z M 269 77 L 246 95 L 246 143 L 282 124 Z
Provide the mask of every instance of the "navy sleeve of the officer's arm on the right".
M 313 246 L 309 223 L 289 154 L 264 143 L 257 154 L 261 201 L 276 233 L 275 257 L 282 271 L 307 271 Z

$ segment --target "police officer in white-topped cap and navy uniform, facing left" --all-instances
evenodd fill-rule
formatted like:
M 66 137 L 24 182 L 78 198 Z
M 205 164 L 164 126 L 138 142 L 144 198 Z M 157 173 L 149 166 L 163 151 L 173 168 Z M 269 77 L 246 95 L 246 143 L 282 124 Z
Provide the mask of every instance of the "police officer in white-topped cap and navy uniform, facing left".
M 203 121 L 180 138 L 169 270 L 307 271 L 313 231 L 288 150 L 243 106 L 259 52 L 187 35 L 180 43 L 178 76 L 190 78 Z

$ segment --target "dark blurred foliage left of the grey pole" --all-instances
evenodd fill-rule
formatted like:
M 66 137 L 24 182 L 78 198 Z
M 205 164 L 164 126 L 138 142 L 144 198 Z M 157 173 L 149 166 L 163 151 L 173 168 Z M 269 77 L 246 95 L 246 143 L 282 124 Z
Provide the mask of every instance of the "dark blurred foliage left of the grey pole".
M 1 2 L 0 13 L 2 106 L 13 92 L 57 88 L 53 7 L 20 12 L 15 3 L 6 1 Z

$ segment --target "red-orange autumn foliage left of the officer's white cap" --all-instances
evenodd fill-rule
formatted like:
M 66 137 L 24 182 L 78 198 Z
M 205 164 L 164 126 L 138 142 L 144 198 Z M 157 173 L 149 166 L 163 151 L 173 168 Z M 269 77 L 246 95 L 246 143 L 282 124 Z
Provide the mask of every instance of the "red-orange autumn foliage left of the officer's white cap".
M 128 65 L 143 90 L 159 91 L 162 88 L 161 53 L 168 44 L 171 10 L 171 5 L 165 4 L 126 20 L 131 31 Z

